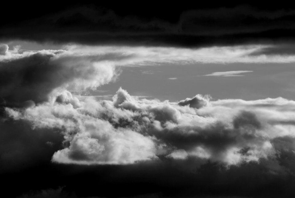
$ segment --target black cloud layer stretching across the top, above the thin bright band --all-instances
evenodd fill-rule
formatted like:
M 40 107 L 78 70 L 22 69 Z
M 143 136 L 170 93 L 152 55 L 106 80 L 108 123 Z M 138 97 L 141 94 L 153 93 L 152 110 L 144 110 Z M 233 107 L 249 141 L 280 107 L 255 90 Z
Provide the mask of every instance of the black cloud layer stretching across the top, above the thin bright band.
M 147 11 L 147 10 L 149 11 Z M 147 6 L 132 9 L 79 6 L 4 22 L 2 39 L 84 44 L 210 46 L 293 42 L 292 7 L 224 5 Z M 155 11 L 153 11 L 155 10 Z M 166 11 L 167 10 L 167 11 Z M 162 14 L 159 14 L 162 13 Z M 166 14 L 166 15 L 165 15 Z

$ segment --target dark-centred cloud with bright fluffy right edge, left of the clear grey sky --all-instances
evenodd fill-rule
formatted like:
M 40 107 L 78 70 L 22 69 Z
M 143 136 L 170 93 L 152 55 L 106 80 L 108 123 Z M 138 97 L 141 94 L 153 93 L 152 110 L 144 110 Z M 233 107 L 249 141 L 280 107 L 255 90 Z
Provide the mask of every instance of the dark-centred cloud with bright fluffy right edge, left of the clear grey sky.
M 11 52 L 10 52 L 11 53 Z M 6 106 L 26 106 L 29 100 L 48 101 L 58 89 L 82 91 L 116 79 L 112 63 L 65 51 L 37 51 L 3 57 L 0 97 Z

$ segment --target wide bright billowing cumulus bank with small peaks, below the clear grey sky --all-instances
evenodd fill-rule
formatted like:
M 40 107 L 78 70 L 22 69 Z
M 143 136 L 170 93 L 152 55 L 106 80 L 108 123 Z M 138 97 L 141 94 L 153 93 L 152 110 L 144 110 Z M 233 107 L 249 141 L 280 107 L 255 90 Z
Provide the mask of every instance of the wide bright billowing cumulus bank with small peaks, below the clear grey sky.
M 63 131 L 68 146 L 54 153 L 57 163 L 132 164 L 164 157 L 229 166 L 262 159 L 278 163 L 281 151 L 293 151 L 292 143 L 283 142 L 295 138 L 294 124 L 283 122 L 293 120 L 293 111 L 284 107 L 292 109 L 295 102 L 282 98 L 211 101 L 196 95 L 169 102 L 139 99 L 121 88 L 112 100 L 72 97 L 67 92 L 54 103 L 6 107 L 6 113 L 34 128 Z

